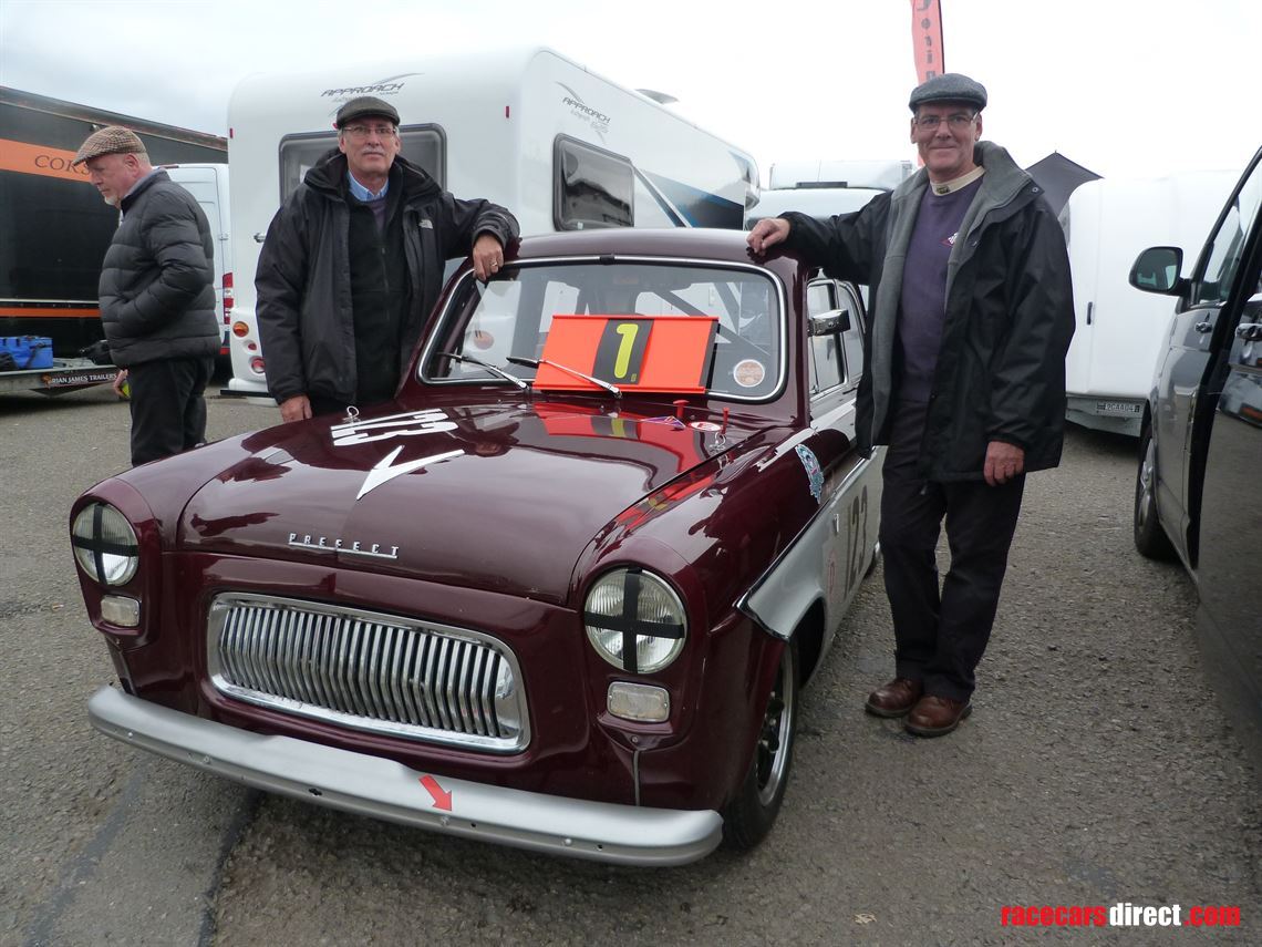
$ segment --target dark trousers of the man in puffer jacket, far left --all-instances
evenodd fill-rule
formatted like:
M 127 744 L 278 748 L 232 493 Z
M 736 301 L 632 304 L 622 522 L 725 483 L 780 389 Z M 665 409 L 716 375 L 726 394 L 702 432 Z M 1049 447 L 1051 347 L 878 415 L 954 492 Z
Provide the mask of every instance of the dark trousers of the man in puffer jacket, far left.
M 197 447 L 206 439 L 206 399 L 215 359 L 159 359 L 127 369 L 131 466 Z

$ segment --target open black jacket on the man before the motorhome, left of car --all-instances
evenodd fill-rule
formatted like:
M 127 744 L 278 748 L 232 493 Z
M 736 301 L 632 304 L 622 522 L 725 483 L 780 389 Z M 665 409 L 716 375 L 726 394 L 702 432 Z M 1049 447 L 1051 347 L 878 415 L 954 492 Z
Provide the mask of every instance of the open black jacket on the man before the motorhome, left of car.
M 345 181 L 345 155 L 333 152 L 321 159 L 276 212 L 259 255 L 259 335 L 268 389 L 278 402 L 300 394 L 355 402 Z M 483 231 L 507 245 L 517 236 L 517 221 L 490 201 L 457 200 L 403 157 L 395 157 L 390 187 L 403 189 L 392 220 L 403 226 L 411 301 L 400 332 L 403 376 L 442 292 L 444 263 L 468 256 Z

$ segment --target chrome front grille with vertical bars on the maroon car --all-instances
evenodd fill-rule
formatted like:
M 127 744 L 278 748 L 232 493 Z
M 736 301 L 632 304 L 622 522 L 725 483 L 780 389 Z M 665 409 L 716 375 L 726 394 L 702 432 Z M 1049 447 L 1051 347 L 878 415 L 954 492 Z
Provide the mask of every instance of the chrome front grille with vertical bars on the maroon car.
M 467 749 L 530 741 L 516 658 L 466 629 L 244 592 L 211 602 L 211 683 L 250 703 Z

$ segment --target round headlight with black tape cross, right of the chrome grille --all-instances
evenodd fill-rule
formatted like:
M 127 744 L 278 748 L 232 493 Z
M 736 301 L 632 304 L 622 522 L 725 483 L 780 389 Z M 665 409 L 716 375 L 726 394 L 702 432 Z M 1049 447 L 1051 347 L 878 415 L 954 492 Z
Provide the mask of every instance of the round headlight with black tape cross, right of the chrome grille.
M 641 568 L 607 572 L 583 605 L 587 638 L 604 660 L 630 674 L 651 674 L 684 649 L 684 604 L 666 581 Z

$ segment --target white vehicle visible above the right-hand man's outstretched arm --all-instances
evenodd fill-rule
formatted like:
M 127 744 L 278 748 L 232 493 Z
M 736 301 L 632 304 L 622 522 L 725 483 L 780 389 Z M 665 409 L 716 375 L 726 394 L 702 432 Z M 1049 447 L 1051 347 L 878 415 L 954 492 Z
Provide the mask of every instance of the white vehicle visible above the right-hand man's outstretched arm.
M 786 211 L 819 220 L 858 211 L 910 174 L 911 162 L 905 160 L 777 162 L 771 165 L 767 188 L 745 215 L 745 229 Z

